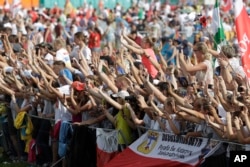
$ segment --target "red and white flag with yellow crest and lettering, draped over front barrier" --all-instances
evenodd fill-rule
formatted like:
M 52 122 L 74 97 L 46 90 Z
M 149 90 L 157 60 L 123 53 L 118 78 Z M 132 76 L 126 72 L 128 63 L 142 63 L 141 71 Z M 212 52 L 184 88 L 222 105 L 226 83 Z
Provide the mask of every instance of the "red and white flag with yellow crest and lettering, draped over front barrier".
M 218 149 L 208 142 L 149 130 L 104 167 L 196 167 Z

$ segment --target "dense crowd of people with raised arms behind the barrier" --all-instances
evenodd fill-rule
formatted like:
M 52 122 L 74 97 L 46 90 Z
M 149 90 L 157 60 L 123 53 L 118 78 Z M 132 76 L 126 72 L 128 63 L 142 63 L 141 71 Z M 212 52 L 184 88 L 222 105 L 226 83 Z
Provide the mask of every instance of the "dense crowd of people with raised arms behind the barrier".
M 250 87 L 234 19 L 221 12 L 227 44 L 217 51 L 207 30 L 213 6 L 183 3 L 139 1 L 126 11 L 85 4 L 73 14 L 0 9 L 0 114 L 10 158 L 27 160 L 34 139 L 47 146 L 36 163 L 55 163 L 63 121 L 119 130 L 120 151 L 139 126 L 248 150 Z

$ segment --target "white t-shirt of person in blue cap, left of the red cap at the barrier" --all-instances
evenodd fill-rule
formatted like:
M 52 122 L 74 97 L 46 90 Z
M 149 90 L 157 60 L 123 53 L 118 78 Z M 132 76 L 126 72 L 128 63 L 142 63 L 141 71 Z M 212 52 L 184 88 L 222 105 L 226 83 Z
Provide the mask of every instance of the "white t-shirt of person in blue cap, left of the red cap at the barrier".
M 57 88 L 60 93 L 69 95 L 70 94 L 70 85 L 64 85 Z M 62 121 L 72 121 L 72 115 L 67 110 L 67 108 L 61 103 L 59 99 L 57 99 L 56 103 L 54 104 L 55 109 L 55 121 L 58 122 L 59 120 Z

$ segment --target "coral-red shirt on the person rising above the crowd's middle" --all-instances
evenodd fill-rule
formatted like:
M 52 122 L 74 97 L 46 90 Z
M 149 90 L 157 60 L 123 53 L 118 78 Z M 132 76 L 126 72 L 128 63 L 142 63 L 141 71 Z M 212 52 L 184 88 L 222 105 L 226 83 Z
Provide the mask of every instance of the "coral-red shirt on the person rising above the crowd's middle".
M 155 53 L 153 49 L 144 49 L 144 51 L 147 53 L 147 55 L 150 55 L 150 57 L 157 61 Z M 148 70 L 148 73 L 151 75 L 152 78 L 155 78 L 158 74 L 157 69 L 154 67 L 154 65 L 151 63 L 151 61 L 145 56 L 142 55 L 142 64 L 145 66 L 145 68 Z

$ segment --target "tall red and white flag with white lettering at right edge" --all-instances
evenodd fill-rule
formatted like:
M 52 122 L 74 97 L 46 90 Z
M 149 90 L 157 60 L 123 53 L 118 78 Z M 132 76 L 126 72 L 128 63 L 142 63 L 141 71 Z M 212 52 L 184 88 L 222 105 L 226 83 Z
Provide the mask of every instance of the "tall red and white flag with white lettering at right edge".
M 236 0 L 234 6 L 235 26 L 242 65 L 247 77 L 250 78 L 250 19 L 242 0 Z

